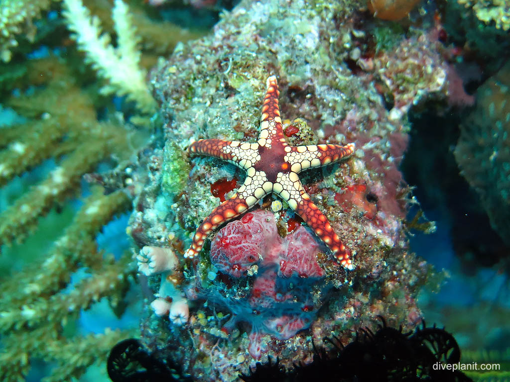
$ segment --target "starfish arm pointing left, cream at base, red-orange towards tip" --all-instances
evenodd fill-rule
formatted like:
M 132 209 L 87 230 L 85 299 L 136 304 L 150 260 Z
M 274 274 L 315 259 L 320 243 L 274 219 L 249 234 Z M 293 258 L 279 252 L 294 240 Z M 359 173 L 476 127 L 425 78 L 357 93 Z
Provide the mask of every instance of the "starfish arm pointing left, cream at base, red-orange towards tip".
M 233 163 L 241 169 L 248 169 L 259 156 L 256 143 L 201 139 L 188 147 L 191 154 L 207 155 Z

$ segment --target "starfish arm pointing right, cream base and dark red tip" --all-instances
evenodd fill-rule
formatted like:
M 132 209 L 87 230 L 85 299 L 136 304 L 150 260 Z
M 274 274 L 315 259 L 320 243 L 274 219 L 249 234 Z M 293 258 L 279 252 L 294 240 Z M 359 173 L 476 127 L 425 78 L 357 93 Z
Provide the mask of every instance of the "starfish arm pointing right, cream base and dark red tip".
M 291 170 L 299 173 L 302 170 L 316 168 L 339 161 L 354 152 L 354 144 L 340 145 L 308 145 L 289 146 L 284 160 L 290 163 Z

